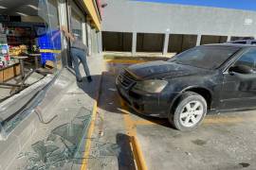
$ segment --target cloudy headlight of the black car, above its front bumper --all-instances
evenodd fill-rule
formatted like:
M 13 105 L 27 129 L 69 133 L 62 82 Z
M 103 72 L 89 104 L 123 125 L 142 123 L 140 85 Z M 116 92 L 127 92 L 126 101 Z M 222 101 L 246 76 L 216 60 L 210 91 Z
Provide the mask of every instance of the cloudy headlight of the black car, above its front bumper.
M 149 79 L 138 81 L 134 90 L 144 91 L 148 93 L 160 93 L 166 87 L 168 81 L 160 79 Z

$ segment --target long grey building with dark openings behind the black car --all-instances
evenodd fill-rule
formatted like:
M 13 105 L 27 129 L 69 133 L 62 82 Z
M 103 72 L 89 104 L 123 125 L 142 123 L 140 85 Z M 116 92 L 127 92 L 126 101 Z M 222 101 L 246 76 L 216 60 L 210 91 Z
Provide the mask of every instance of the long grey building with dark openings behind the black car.
M 256 37 L 256 12 L 106 0 L 103 51 L 179 53 L 192 46 Z

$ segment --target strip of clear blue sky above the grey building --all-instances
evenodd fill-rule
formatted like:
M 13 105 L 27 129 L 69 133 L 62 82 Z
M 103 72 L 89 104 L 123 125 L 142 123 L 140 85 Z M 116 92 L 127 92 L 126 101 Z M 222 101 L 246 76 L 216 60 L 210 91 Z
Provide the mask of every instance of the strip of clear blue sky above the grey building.
M 215 8 L 236 8 L 256 11 L 256 0 L 137 0 Z

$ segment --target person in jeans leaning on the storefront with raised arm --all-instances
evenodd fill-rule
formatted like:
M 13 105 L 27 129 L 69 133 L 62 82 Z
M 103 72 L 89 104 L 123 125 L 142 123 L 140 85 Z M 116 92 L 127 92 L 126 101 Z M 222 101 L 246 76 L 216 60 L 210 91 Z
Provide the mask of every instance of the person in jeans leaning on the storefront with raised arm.
M 61 30 L 64 31 L 64 36 L 71 42 L 71 58 L 76 72 L 77 81 L 82 82 L 82 76 L 79 71 L 79 60 L 81 60 L 87 80 L 88 82 L 91 82 L 92 77 L 90 76 L 90 71 L 86 61 L 88 54 L 87 46 L 79 39 L 79 34 L 69 33 L 65 26 L 62 26 Z

